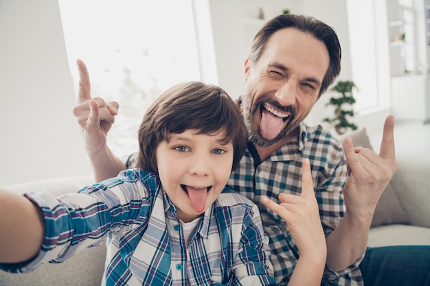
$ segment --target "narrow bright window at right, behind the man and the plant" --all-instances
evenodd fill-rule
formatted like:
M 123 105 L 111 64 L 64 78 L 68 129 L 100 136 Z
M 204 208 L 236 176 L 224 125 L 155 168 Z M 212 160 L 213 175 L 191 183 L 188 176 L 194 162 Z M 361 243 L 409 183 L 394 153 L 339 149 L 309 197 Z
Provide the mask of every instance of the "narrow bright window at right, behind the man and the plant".
M 387 21 L 381 15 L 378 1 L 349 0 L 348 25 L 352 80 L 357 85 L 354 91 L 358 114 L 389 106 L 389 67 L 387 56 Z M 381 1 L 383 2 L 383 1 Z M 386 8 L 384 7 L 383 10 Z M 377 14 L 379 11 L 379 14 Z

